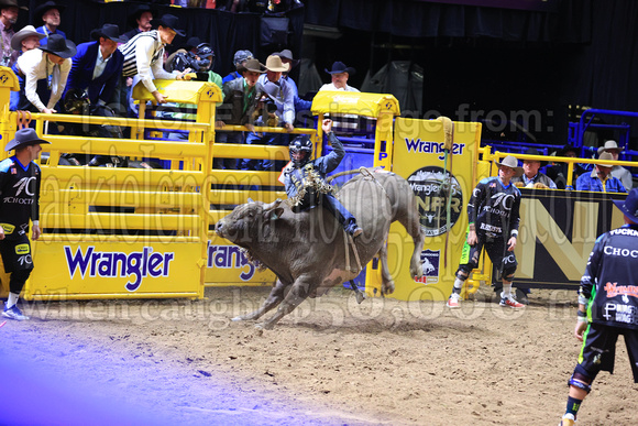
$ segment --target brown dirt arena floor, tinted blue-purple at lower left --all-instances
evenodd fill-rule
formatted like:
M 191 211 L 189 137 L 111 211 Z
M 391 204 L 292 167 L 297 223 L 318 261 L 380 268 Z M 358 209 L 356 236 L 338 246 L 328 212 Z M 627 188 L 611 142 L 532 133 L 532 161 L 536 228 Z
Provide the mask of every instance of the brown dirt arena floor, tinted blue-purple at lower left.
M 130 424 L 556 425 L 564 412 L 580 349 L 573 291 L 534 291 L 526 309 L 513 310 L 482 287 L 450 312 L 442 302 L 358 305 L 338 288 L 274 330 L 230 321 L 268 291 L 30 303 L 32 320 L 0 328 L 0 356 L 18 360 L 10 373 L 31 402 L 44 404 L 42 382 L 57 381 L 66 392 L 58 408 L 78 405 L 75 392 L 80 405 L 141 416 Z M 616 360 L 615 374 L 596 380 L 580 425 L 638 424 L 623 340 Z

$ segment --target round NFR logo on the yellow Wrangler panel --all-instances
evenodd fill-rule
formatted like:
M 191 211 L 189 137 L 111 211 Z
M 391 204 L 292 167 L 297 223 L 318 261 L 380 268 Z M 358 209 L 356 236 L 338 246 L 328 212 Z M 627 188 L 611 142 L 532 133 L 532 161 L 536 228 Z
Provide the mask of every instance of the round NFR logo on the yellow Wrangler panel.
M 427 166 L 413 173 L 408 183 L 417 197 L 421 228 L 426 236 L 437 237 L 452 229 L 463 209 L 463 193 L 454 175 L 438 166 Z M 447 217 L 449 197 L 450 223 Z

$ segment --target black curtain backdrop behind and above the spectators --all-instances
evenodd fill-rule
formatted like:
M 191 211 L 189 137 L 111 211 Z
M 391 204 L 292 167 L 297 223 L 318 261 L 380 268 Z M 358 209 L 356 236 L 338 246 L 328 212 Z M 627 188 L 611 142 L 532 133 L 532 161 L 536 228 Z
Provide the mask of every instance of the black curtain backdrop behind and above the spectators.
M 61 29 L 76 43 L 88 41 L 90 31 L 107 22 L 129 31 L 127 18 L 141 3 L 58 2 L 67 6 Z M 31 21 L 40 2 L 29 3 L 30 11 L 21 13 L 18 29 L 41 24 Z M 239 48 L 251 50 L 261 61 L 276 50 L 290 48 L 296 58 L 310 58 L 324 83 L 329 76 L 323 68 L 342 61 L 358 69 L 349 81 L 354 87 L 361 87 L 366 72 L 375 73 L 389 61 L 411 61 L 424 68 L 424 106 L 410 113 L 436 110 L 468 120 L 458 117 L 462 105 L 479 117 L 481 111 L 484 116 L 534 111 L 541 117 L 534 133 L 552 144 L 566 142 L 566 122 L 578 118 L 582 106 L 638 110 L 635 0 L 304 3 L 305 8 L 285 14 L 289 19 L 286 46 L 262 45 L 258 14 L 153 7 L 158 14 L 177 15 L 187 36 L 209 41 L 217 54 L 215 70 L 222 76 L 231 70 Z M 307 34 L 309 25 L 321 31 L 304 36 L 305 25 Z M 174 45 L 185 41 L 176 39 Z M 298 78 L 296 73 L 293 76 Z M 634 139 L 631 146 L 637 146 Z

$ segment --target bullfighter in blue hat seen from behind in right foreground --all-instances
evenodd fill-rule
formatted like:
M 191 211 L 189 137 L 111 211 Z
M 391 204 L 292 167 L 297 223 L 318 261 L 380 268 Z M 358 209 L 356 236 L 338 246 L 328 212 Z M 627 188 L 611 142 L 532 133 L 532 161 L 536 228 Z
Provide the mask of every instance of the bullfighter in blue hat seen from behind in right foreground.
M 569 380 L 566 411 L 560 423 L 563 426 L 574 425 L 597 374 L 614 372 L 616 341 L 620 335 L 627 347 L 634 383 L 638 383 L 638 267 L 634 255 L 638 247 L 638 189 L 614 204 L 625 215 L 625 226 L 596 240 L 581 280 L 574 336 L 583 346 Z

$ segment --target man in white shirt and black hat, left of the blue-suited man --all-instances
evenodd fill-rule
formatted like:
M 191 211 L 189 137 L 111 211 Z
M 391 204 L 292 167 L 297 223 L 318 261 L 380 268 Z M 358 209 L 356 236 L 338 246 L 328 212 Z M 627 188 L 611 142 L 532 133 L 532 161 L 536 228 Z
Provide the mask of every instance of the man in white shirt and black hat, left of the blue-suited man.
M 72 67 L 72 56 L 76 54 L 76 45 L 59 34 L 51 34 L 46 45 L 25 52 L 18 58 L 16 70 L 20 83 L 20 99 L 16 109 L 32 112 L 54 113 L 55 105 L 62 98 L 68 73 Z M 38 88 L 38 80 L 51 78 L 51 92 Z M 42 98 L 48 98 L 46 105 Z

